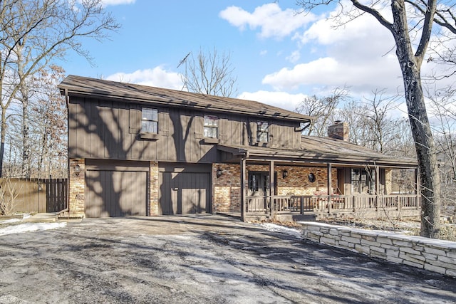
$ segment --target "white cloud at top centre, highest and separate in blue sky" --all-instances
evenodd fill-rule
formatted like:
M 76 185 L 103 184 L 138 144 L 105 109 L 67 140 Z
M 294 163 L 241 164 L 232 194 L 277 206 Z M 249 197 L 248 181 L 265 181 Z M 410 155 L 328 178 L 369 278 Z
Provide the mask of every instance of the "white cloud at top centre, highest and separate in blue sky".
M 221 11 L 219 16 L 241 31 L 247 26 L 253 30 L 261 28 L 259 36 L 262 38 L 289 36 L 298 28 L 315 20 L 314 14 L 296 15 L 293 9 L 282 11 L 276 3 L 258 6 L 253 13 L 238 6 L 229 6 Z

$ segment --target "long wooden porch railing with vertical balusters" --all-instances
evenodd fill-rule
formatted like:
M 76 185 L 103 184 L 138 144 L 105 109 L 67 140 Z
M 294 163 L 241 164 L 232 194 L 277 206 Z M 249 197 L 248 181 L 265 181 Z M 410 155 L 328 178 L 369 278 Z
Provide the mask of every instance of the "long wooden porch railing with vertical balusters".
M 271 196 L 247 196 L 246 201 L 246 211 L 250 215 L 420 209 L 416 194 L 274 196 L 272 199 Z

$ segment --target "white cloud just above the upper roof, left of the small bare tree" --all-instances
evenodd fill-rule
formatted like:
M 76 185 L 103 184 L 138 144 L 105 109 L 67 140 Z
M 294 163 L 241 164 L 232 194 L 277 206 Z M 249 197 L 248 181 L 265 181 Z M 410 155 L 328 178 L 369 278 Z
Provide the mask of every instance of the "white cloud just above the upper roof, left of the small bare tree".
M 115 73 L 106 79 L 175 90 L 181 90 L 183 85 L 179 73 L 164 70 L 160 66 L 152 69 L 135 70 L 133 73 Z

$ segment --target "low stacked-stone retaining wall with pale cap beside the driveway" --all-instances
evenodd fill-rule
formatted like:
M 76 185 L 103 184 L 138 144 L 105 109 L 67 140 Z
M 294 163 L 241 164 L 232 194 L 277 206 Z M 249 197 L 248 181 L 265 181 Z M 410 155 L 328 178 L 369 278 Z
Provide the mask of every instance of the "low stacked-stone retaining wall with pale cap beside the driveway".
M 304 239 L 456 278 L 456 242 L 301 222 Z

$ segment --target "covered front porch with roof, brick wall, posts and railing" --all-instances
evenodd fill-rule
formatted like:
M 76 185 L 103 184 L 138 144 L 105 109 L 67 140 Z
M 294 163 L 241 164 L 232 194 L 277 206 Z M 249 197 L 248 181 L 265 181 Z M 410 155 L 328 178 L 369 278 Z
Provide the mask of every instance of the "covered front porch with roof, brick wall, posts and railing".
M 304 144 L 311 141 L 314 150 L 219 146 L 228 165 L 213 165 L 216 178 L 213 210 L 236 212 L 243 221 L 334 216 L 397 218 L 420 214 L 414 159 L 388 157 L 340 140 L 321 137 L 304 140 Z M 393 184 L 393 170 L 408 172 L 406 189 Z M 230 204 L 231 209 L 223 210 L 217 204 L 218 185 L 224 184 L 224 175 L 228 174 L 229 190 L 220 188 L 235 193 L 234 177 L 237 177 L 240 204 Z

